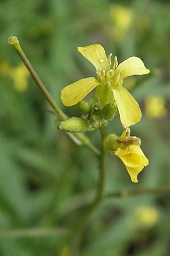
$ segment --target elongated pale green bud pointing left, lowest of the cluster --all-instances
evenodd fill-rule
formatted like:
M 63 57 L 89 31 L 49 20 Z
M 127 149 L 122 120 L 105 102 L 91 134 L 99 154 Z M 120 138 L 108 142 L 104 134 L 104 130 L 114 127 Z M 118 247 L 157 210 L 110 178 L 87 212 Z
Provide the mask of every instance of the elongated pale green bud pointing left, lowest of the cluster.
M 69 133 L 82 133 L 89 130 L 89 121 L 79 117 L 72 117 L 59 122 L 58 129 Z

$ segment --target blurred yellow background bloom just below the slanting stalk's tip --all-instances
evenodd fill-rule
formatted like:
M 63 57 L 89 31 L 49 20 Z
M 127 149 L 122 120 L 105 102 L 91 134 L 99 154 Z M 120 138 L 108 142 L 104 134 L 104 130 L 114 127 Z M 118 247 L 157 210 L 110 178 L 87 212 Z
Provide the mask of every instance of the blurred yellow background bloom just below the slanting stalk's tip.
M 14 80 L 14 88 L 16 90 L 23 92 L 27 89 L 29 72 L 23 64 L 16 68 L 11 68 L 9 75 Z

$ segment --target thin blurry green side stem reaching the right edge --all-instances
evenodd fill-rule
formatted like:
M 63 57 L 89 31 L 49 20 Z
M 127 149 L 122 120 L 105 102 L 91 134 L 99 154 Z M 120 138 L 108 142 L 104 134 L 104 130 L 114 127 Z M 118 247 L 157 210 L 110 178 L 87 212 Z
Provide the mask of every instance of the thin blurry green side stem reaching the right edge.
M 160 193 L 170 193 L 170 187 L 159 187 L 159 188 L 139 188 L 139 189 L 122 189 L 122 191 L 108 193 L 104 196 L 105 199 L 111 198 L 125 198 L 129 196 L 139 196 L 139 195 L 159 195 Z

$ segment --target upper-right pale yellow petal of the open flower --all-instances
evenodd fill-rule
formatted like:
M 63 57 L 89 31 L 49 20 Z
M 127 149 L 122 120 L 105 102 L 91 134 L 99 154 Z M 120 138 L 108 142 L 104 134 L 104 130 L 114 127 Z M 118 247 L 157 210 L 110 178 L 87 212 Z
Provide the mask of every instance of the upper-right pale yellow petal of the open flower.
M 124 79 L 128 76 L 133 75 L 145 75 L 150 72 L 143 63 L 143 61 L 138 57 L 130 57 L 129 59 L 123 61 L 120 65 L 118 65 L 114 76 L 115 79 L 120 73 L 120 80 Z

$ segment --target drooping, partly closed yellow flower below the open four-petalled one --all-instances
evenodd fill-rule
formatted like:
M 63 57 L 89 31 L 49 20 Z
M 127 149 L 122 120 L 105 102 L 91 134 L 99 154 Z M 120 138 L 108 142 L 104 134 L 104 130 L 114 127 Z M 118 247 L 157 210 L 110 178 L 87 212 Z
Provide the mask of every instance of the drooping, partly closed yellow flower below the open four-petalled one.
M 137 176 L 145 166 L 148 166 L 148 159 L 141 150 L 141 139 L 130 136 L 130 129 L 124 127 L 124 132 L 117 139 L 119 146 L 114 152 L 118 158 L 125 164 L 131 181 L 138 182 Z

